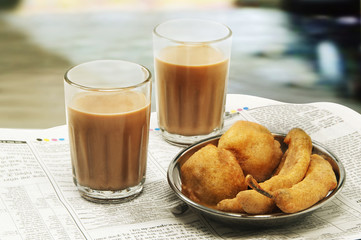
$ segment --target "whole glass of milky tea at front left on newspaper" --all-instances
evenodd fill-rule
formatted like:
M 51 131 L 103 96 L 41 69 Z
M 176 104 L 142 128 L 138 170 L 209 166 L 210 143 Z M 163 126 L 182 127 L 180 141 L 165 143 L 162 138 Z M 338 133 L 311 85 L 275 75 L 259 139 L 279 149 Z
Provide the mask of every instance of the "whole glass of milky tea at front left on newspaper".
M 98 60 L 64 77 L 73 181 L 93 202 L 123 202 L 145 181 L 151 73 L 135 63 Z

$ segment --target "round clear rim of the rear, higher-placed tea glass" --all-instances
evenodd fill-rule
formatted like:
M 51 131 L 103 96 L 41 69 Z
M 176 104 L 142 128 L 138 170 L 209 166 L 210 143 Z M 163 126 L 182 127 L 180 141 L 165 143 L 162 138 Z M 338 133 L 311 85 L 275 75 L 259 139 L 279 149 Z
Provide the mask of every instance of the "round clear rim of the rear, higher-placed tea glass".
M 202 22 L 214 23 L 214 24 L 217 24 L 219 26 L 224 27 L 228 31 L 228 33 L 224 37 L 209 40 L 209 41 L 182 41 L 182 40 L 177 40 L 177 39 L 174 39 L 174 38 L 171 38 L 171 37 L 164 36 L 164 35 L 162 35 L 161 33 L 159 33 L 157 31 L 158 27 L 163 25 L 163 24 L 170 23 L 170 22 L 175 22 L 175 21 L 180 21 L 180 20 L 192 20 L 192 21 L 202 21 Z M 228 38 L 230 38 L 232 36 L 232 30 L 227 25 L 225 25 L 223 23 L 220 23 L 220 22 L 212 21 L 212 20 L 197 19 L 197 18 L 178 18 L 178 19 L 171 19 L 171 20 L 168 20 L 168 21 L 157 24 L 153 28 L 153 34 L 160 37 L 160 38 L 164 38 L 164 39 L 167 39 L 169 41 L 179 43 L 179 44 L 202 45 L 202 44 L 211 44 L 211 43 L 216 43 L 216 42 L 221 42 L 223 40 L 226 40 L 226 39 L 228 39 Z

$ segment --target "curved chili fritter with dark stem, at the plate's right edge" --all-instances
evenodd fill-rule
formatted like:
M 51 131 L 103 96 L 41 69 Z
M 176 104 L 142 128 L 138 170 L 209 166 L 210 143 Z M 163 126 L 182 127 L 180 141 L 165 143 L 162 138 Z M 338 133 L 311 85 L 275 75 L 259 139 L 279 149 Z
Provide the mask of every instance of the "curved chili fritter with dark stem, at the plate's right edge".
M 305 178 L 291 188 L 267 192 L 250 175 L 247 175 L 246 182 L 260 194 L 272 198 L 285 213 L 295 213 L 313 206 L 337 186 L 331 164 L 317 154 L 311 156 Z

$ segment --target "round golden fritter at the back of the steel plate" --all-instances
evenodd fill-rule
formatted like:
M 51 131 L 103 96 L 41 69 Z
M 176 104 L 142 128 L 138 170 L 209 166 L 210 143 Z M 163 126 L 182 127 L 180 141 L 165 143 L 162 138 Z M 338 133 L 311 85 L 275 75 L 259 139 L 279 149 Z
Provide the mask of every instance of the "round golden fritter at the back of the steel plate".
M 238 121 L 219 139 L 218 147 L 231 151 L 245 175 L 262 182 L 271 177 L 282 158 L 280 143 L 264 126 Z

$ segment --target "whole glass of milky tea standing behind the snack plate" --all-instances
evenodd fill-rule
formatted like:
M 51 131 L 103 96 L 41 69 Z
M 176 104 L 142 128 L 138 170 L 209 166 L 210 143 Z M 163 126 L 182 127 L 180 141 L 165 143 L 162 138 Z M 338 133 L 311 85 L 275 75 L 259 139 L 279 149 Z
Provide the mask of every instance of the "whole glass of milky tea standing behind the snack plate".
M 153 31 L 158 125 L 188 145 L 223 128 L 232 31 L 218 22 L 176 19 Z

